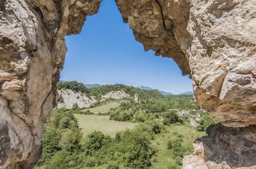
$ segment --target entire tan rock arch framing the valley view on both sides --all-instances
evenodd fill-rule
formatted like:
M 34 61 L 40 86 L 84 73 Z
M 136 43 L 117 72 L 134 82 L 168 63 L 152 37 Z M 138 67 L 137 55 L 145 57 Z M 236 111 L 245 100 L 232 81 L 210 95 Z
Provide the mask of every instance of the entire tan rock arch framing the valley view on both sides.
M 44 119 L 51 115 L 58 100 L 56 83 L 67 51 L 64 36 L 79 34 L 86 16 L 96 14 L 100 3 L 0 2 L 2 169 L 27 169 L 38 161 Z M 152 49 L 157 56 L 173 58 L 182 74 L 192 78 L 196 103 L 227 126 L 215 127 L 215 134 L 208 132 L 212 142 L 196 141 L 195 147 L 217 144 L 219 135 L 229 135 L 223 131 L 229 127 L 256 125 L 255 0 L 116 0 L 116 4 L 145 51 Z M 246 152 L 255 157 L 256 127 L 236 131 L 250 142 Z M 209 156 L 212 152 L 200 147 L 185 158 L 184 168 L 214 168 L 219 161 L 225 161 L 221 158 L 224 152 L 216 160 Z M 232 167 L 253 165 L 255 161 L 246 159 Z

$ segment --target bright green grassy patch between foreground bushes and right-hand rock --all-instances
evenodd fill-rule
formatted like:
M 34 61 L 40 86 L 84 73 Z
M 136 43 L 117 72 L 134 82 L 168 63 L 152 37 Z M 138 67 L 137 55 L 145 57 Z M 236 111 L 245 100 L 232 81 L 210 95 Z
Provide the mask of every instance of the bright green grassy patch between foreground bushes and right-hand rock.
M 188 146 L 194 149 L 193 141 L 196 138 L 201 138 L 204 135 L 207 135 L 205 132 L 198 132 L 195 128 L 186 127 L 185 125 L 175 125 L 167 127 L 168 133 L 160 133 L 156 135 L 155 139 L 152 141 L 152 145 L 158 149 L 157 163 L 152 163 L 150 169 L 167 169 L 168 166 L 172 163 L 175 163 L 173 159 L 172 150 L 167 149 L 167 141 L 174 140 L 177 138 L 177 135 L 174 135 L 173 132 L 182 134 L 183 146 Z M 181 168 L 181 166 L 179 166 Z

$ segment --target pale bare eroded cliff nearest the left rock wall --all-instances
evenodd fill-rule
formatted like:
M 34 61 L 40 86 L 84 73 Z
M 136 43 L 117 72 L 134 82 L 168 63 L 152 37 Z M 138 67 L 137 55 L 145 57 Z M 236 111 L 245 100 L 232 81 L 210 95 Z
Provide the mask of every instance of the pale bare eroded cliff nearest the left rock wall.
M 75 103 L 77 103 L 78 107 L 80 108 L 89 107 L 90 104 L 93 104 L 96 102 L 96 100 L 93 99 L 92 97 L 87 97 L 80 92 L 74 93 L 70 89 L 58 90 L 58 94 L 59 94 L 59 99 L 61 99 L 61 101 L 58 102 L 58 105 L 57 105 L 58 108 L 64 107 L 64 108 L 70 109 Z

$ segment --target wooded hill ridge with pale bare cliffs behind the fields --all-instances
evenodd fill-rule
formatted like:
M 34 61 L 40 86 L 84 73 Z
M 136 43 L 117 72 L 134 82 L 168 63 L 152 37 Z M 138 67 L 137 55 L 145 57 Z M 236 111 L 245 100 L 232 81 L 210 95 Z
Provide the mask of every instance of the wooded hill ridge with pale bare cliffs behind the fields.
M 135 93 L 141 100 L 153 101 L 164 98 L 158 90 L 140 90 L 137 87 L 120 84 L 87 88 L 83 83 L 66 81 L 58 82 L 57 89 L 60 96 L 58 108 L 71 108 L 74 103 L 77 103 L 80 108 L 89 107 L 97 100 L 105 101 L 108 98 L 132 99 Z

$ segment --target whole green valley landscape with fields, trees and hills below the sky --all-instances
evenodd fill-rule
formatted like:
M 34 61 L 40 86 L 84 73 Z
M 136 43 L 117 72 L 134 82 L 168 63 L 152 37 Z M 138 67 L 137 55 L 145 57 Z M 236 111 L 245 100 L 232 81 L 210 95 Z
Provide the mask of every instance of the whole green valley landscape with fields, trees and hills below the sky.
M 195 138 L 218 122 L 193 95 L 76 81 L 57 88 L 58 107 L 45 121 L 34 169 L 181 169 Z

